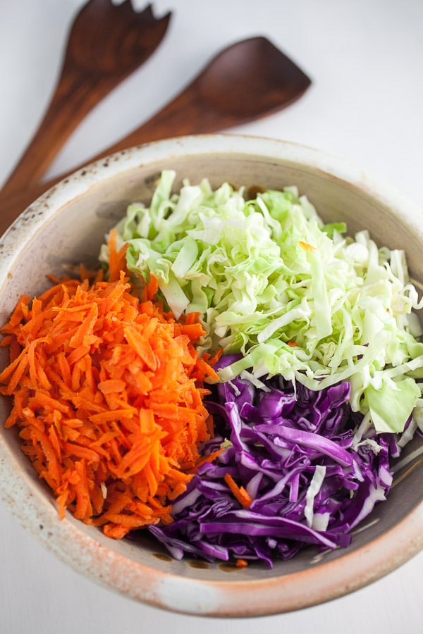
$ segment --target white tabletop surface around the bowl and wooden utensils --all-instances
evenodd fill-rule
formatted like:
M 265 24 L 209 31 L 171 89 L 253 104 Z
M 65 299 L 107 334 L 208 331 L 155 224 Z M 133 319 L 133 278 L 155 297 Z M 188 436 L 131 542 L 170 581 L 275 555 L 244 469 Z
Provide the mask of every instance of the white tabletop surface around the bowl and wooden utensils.
M 47 106 L 66 30 L 81 5 L 0 0 L 0 184 Z M 422 0 L 157 0 L 154 10 L 173 11 L 164 42 L 82 123 L 49 175 L 90 159 L 147 120 L 220 49 L 264 35 L 312 78 L 312 87 L 290 108 L 231 132 L 329 151 L 423 206 Z M 353 595 L 295 613 L 219 621 L 173 615 L 80 577 L 0 506 L 4 634 L 414 634 L 423 630 L 422 590 L 423 553 Z

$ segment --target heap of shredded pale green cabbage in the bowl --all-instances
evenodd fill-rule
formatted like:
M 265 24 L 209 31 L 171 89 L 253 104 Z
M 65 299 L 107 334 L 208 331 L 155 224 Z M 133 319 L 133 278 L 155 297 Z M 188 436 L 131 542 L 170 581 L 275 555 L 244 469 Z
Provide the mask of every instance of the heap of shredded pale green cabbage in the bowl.
M 248 200 L 243 188 L 214 191 L 204 179 L 172 194 L 175 176 L 161 174 L 149 207 L 128 207 L 118 240 L 128 242 L 128 269 L 154 274 L 176 318 L 201 313 L 200 353 L 243 353 L 221 380 L 247 369 L 312 390 L 348 380 L 354 411 L 379 433 L 402 431 L 423 377 L 412 312 L 422 304 L 403 251 L 324 225 L 296 187 Z

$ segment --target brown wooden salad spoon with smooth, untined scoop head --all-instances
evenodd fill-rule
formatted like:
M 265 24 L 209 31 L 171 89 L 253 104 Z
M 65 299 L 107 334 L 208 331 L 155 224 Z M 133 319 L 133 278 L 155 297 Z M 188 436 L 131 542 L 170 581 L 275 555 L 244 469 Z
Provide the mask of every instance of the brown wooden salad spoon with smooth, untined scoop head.
M 221 51 L 157 114 L 92 160 L 157 139 L 217 132 L 262 118 L 292 104 L 310 84 L 309 77 L 268 39 L 245 39 Z M 65 176 L 13 194 L 0 192 L 0 235 Z

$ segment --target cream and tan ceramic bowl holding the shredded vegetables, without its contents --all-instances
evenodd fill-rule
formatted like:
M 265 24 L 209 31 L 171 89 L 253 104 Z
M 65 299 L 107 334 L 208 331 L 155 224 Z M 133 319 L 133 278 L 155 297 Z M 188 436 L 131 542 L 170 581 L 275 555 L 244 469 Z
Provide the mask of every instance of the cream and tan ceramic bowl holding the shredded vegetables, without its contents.
M 379 244 L 406 248 L 412 277 L 423 281 L 423 213 L 360 168 L 295 144 L 231 135 L 185 137 L 128 149 L 93 163 L 37 199 L 0 244 L 0 323 L 20 294 L 47 287 L 63 263 L 94 263 L 105 232 L 131 201 L 149 201 L 160 171 L 212 185 L 297 185 L 324 220 L 343 219 L 350 233 L 367 228 Z M 1 367 L 6 351 L 1 349 Z M 4 423 L 8 402 L 1 402 Z M 407 449 L 415 452 L 416 439 Z M 412 468 L 415 467 L 415 468 Z M 273 570 L 252 564 L 174 561 L 147 539 L 111 540 L 70 514 L 59 520 L 54 499 L 18 448 L 0 431 L 1 497 L 51 552 L 97 583 L 140 602 L 185 614 L 260 616 L 301 609 L 361 588 L 393 571 L 423 546 L 423 465 L 396 472 L 384 503 L 355 530 L 347 549 L 305 549 Z

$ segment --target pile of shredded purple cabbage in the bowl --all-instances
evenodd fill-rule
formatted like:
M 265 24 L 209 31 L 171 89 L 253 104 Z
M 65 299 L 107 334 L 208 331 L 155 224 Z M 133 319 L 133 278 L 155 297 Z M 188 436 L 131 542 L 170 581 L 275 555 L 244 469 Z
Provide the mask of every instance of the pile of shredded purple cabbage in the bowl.
M 219 367 L 232 361 L 224 357 Z M 188 553 L 271 567 L 307 545 L 346 547 L 350 531 L 388 493 L 395 437 L 372 428 L 355 438 L 362 419 L 348 404 L 349 383 L 319 392 L 280 377 L 263 383 L 236 378 L 214 386 L 207 406 L 216 435 L 203 453 L 225 449 L 176 499 L 173 523 L 149 527 L 176 559 Z M 249 508 L 235 499 L 225 473 L 250 495 Z

